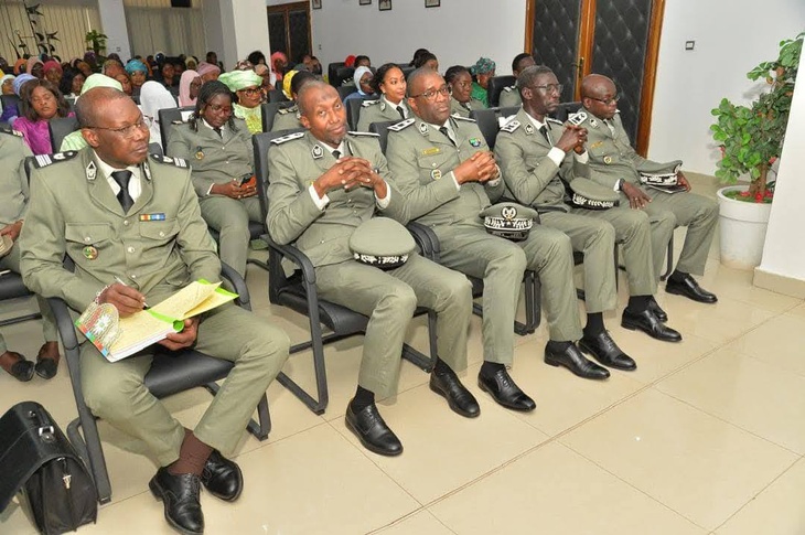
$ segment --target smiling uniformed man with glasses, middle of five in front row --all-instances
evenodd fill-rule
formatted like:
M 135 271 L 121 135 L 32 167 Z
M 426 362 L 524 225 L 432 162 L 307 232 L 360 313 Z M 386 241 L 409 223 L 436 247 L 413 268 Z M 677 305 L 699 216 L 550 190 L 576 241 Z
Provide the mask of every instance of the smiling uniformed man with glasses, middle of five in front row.
M 545 361 L 583 377 L 609 377 L 573 342 L 581 338 L 581 325 L 570 239 L 544 226 L 534 227 L 519 244 L 487 234 L 479 214 L 505 188 L 492 152 L 474 120 L 450 116 L 450 95 L 439 73 L 420 68 L 409 79 L 408 104 L 416 118 L 391 127 L 388 163 L 411 218 L 439 237 L 440 261 L 484 280 L 481 387 L 504 407 L 535 408 L 506 371 L 514 356 L 512 327 L 526 268 L 538 272 L 546 289 L 550 340 Z

